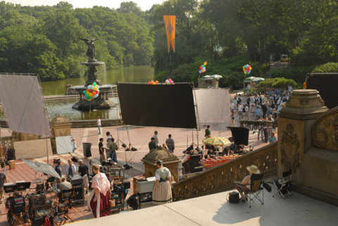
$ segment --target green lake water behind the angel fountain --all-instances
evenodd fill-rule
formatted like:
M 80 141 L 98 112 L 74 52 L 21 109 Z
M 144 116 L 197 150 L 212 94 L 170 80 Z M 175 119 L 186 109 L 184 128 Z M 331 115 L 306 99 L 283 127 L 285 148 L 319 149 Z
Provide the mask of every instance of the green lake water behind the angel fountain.
M 80 75 L 84 75 L 87 69 L 84 65 L 79 65 Z M 102 84 L 115 84 L 116 82 L 148 82 L 154 79 L 154 68 L 151 66 L 137 66 L 116 68 L 114 70 L 105 70 L 104 66 L 96 67 L 99 74 L 98 80 Z M 65 94 L 67 84 L 79 85 L 86 82 L 87 77 L 70 78 L 53 82 L 42 82 L 42 92 L 44 96 Z

